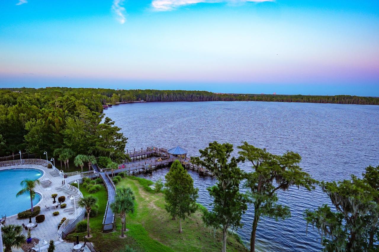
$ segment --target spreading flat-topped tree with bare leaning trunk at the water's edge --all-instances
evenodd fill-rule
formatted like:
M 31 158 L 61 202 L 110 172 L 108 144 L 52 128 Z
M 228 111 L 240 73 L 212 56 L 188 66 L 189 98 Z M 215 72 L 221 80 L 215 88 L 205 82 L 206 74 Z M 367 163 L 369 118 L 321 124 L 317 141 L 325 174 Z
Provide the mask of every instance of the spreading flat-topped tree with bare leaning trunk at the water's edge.
M 238 146 L 242 160 L 252 163 L 253 171 L 246 174 L 245 187 L 254 204 L 254 217 L 250 238 L 250 251 L 255 251 L 255 236 L 259 220 L 263 216 L 285 219 L 291 216 L 290 207 L 277 204 L 277 190 L 288 191 L 291 186 L 313 190 L 316 180 L 298 166 L 301 157 L 287 151 L 282 156 L 273 155 L 266 149 L 256 148 L 243 142 Z

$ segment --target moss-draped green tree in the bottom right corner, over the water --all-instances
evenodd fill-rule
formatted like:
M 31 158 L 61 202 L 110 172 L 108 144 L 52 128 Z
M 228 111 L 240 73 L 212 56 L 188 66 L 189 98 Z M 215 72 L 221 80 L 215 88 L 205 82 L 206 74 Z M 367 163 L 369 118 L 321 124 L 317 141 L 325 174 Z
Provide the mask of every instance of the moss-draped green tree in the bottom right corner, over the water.
M 305 219 L 321 234 L 324 251 L 377 251 L 379 239 L 379 166 L 368 166 L 363 179 L 321 182 L 328 205 L 305 210 Z

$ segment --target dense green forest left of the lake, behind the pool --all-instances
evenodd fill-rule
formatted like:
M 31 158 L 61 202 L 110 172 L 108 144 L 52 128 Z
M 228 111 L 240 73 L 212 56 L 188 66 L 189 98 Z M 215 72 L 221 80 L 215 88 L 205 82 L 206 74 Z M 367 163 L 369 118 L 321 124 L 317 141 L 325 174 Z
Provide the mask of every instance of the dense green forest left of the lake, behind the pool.
M 0 90 L 0 156 L 21 150 L 65 163 L 78 154 L 124 160 L 127 138 L 104 118 L 104 99 L 83 89 Z

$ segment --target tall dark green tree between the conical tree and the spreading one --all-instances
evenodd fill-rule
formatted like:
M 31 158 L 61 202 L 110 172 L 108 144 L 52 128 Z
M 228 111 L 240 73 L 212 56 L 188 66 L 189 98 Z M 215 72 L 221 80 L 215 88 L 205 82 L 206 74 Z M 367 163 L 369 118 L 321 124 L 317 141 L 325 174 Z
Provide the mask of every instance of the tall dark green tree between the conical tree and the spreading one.
M 209 187 L 213 198 L 213 209 L 206 211 L 203 220 L 207 226 L 222 227 L 222 252 L 226 252 L 226 238 L 230 227 L 242 227 L 241 215 L 247 210 L 247 196 L 240 193 L 243 171 L 238 168 L 241 158 L 230 157 L 233 145 L 230 143 L 209 143 L 204 150 L 199 150 L 200 157 L 191 158 L 192 162 L 202 165 L 215 174 L 217 183 Z

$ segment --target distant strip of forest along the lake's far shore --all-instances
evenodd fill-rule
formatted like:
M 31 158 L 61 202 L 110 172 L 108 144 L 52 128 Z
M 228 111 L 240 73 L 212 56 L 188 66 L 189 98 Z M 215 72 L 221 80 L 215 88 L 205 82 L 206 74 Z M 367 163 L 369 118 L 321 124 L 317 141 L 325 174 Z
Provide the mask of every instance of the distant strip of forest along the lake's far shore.
M 363 97 L 350 95 L 265 95 L 265 94 L 224 94 L 207 91 L 185 90 L 114 90 L 114 89 L 85 89 L 47 87 L 45 89 L 13 88 L 11 91 L 50 94 L 60 92 L 83 98 L 96 95 L 102 103 L 122 101 L 279 101 L 300 103 L 340 103 L 340 104 L 370 104 L 379 105 L 378 97 Z

